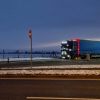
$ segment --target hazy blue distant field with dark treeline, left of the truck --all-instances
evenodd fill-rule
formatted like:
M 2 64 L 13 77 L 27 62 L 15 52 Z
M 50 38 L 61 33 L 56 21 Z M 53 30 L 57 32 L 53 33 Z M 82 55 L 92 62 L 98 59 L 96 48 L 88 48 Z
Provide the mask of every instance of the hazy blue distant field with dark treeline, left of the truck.
M 0 50 L 0 58 L 27 58 L 30 57 L 29 50 Z M 32 50 L 32 57 L 60 57 L 60 51 L 35 51 Z

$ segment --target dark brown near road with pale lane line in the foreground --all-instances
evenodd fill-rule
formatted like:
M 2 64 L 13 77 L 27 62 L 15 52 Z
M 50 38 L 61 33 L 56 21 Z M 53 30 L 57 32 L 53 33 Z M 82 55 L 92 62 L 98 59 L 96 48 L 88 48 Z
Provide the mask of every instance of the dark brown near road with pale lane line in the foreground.
M 51 100 L 50 98 L 100 99 L 100 80 L 0 79 L 0 100 Z

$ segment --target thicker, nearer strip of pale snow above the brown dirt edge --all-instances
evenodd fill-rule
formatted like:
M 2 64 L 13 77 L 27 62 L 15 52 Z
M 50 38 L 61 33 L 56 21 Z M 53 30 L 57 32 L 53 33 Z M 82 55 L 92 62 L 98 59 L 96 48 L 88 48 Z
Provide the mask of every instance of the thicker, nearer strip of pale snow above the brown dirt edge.
M 2 74 L 100 75 L 100 70 L 2 70 Z

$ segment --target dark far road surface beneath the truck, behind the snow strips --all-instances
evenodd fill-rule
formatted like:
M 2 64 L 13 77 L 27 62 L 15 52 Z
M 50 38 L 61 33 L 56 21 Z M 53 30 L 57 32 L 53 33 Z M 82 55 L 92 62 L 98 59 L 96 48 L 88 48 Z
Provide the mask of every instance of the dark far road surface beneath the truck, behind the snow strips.
M 100 65 L 100 59 L 87 60 L 63 60 L 63 59 L 51 59 L 51 60 L 37 60 L 32 62 L 33 67 L 39 66 L 58 66 L 58 65 Z M 15 62 L 0 62 L 0 69 L 2 68 L 23 68 L 30 67 L 28 61 L 15 61 Z

